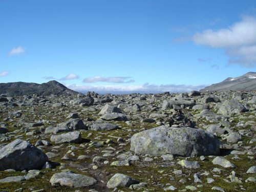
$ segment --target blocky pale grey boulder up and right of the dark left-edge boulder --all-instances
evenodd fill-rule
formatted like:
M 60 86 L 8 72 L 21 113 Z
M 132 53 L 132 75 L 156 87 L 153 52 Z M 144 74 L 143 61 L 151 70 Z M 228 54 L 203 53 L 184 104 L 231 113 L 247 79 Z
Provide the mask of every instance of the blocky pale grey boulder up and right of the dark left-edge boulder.
M 51 141 L 58 143 L 81 143 L 82 136 L 81 133 L 78 131 L 63 133 L 60 135 L 52 135 Z

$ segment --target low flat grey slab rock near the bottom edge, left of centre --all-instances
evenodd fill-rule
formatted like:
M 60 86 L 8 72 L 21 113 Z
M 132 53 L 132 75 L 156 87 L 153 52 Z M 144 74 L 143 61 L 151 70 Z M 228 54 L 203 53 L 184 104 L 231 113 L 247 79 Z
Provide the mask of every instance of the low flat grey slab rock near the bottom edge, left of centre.
M 61 172 L 54 174 L 51 179 L 50 183 L 60 184 L 61 186 L 69 186 L 69 187 L 88 187 L 92 186 L 97 183 L 97 180 L 88 177 L 86 175 L 75 174 L 73 172 Z

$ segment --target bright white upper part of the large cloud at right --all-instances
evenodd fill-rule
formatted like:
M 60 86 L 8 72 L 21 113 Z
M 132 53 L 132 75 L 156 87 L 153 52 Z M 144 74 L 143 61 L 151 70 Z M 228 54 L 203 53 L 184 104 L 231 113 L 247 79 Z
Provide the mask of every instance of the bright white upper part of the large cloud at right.
M 193 40 L 196 44 L 215 48 L 255 44 L 256 19 L 246 16 L 242 18 L 241 22 L 226 29 L 217 31 L 207 29 L 203 33 L 196 33 Z

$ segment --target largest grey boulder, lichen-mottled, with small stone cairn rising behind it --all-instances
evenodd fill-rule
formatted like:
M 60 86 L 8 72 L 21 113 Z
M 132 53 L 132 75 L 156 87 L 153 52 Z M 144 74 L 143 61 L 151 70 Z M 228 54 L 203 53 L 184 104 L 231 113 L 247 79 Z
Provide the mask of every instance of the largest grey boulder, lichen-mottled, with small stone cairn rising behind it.
M 155 156 L 219 155 L 220 142 L 215 135 L 200 129 L 160 126 L 133 135 L 131 151 Z

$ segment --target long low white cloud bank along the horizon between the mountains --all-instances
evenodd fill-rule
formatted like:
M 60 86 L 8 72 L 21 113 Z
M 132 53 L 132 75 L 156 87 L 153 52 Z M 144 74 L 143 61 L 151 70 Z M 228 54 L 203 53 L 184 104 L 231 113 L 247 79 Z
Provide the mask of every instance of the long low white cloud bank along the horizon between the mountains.
M 66 85 L 69 89 L 78 92 L 95 91 L 100 94 L 113 93 L 113 94 L 127 94 L 127 93 L 163 93 L 169 92 L 190 92 L 193 90 L 200 90 L 207 85 L 185 85 L 185 84 L 142 84 L 142 85 L 102 85 L 102 86 L 83 86 L 70 84 Z

